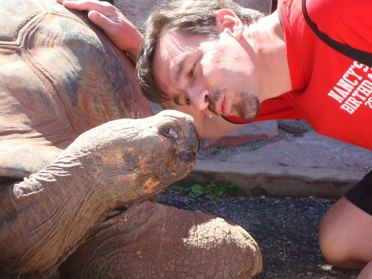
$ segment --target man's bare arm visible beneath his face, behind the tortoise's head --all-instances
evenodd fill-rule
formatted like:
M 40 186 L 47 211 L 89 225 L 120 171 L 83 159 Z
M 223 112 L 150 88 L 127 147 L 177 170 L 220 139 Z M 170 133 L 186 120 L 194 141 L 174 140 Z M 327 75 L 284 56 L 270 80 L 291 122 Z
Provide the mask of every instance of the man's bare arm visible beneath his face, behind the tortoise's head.
M 221 116 L 206 115 L 204 112 L 196 110 L 192 105 L 176 105 L 172 100 L 160 104 L 163 109 L 175 109 L 191 115 L 198 126 L 200 137 L 203 140 L 211 140 L 223 137 L 224 135 L 242 127 L 244 124 L 234 124 L 226 121 Z M 208 113 L 206 111 L 205 113 Z M 211 114 L 209 112 L 209 114 Z

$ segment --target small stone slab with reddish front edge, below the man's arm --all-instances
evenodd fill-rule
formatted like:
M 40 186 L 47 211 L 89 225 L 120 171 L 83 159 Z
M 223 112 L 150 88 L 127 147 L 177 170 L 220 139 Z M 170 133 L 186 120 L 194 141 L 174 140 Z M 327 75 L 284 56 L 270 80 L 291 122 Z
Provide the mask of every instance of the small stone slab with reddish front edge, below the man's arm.
M 204 148 L 235 147 L 262 138 L 275 137 L 277 135 L 279 135 L 279 129 L 276 120 L 258 121 L 246 124 L 224 137 L 215 140 L 205 140 Z

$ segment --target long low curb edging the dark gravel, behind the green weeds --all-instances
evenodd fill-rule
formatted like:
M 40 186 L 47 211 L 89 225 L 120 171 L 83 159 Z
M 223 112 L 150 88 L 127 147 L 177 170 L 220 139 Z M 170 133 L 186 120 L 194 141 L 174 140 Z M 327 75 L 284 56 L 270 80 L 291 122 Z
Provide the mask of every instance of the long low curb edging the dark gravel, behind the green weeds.
M 245 195 L 341 197 L 365 176 L 363 171 L 252 165 L 196 160 L 182 180 L 186 185 L 233 183 Z

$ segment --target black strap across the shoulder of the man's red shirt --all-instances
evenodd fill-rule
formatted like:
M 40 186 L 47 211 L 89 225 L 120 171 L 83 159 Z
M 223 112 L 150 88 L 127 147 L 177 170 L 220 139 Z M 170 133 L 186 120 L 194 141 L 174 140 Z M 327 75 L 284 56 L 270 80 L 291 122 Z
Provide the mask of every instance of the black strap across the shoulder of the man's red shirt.
M 309 16 L 306 12 L 306 0 L 302 0 L 302 13 L 305 17 L 307 24 L 310 26 L 312 31 L 320 38 L 325 44 L 329 45 L 331 48 L 335 49 L 336 51 L 346 55 L 347 57 L 352 58 L 355 61 L 363 63 L 366 66 L 372 67 L 372 54 L 366 51 L 362 51 L 360 49 L 349 47 L 348 45 L 341 44 L 334 39 L 331 39 L 323 32 L 321 32 L 314 23 L 311 22 Z M 368 34 L 371 35 L 371 34 Z

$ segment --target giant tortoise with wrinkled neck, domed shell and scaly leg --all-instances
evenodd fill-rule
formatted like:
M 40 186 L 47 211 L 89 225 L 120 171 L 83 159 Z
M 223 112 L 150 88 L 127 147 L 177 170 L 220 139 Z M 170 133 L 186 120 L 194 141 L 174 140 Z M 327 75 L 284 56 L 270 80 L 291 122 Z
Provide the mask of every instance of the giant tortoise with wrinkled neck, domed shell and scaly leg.
M 123 207 L 191 170 L 191 116 L 151 116 L 133 65 L 85 13 L 3 0 L 0 14 L 1 276 L 260 272 L 257 244 L 235 224 L 157 203 Z

